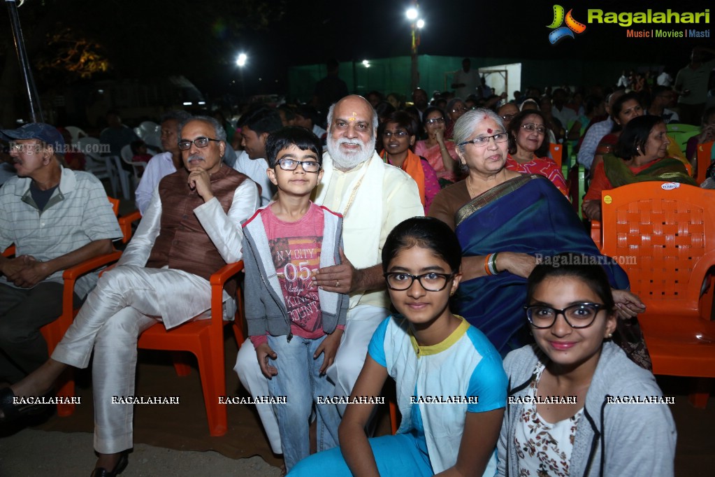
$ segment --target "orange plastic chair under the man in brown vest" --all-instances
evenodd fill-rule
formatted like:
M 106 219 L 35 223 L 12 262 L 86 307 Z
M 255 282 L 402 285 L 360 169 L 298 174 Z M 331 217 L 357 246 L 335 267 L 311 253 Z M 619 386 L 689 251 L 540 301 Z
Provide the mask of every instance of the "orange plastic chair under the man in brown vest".
M 211 318 L 195 320 L 167 330 L 157 323 L 139 336 L 138 348 L 150 350 L 190 351 L 199 363 L 204 393 L 204 404 L 211 436 L 223 436 L 227 431 L 226 405 L 219 404 L 220 395 L 226 395 L 226 371 L 224 364 L 224 327 L 231 322 L 223 320 L 223 286 L 227 280 L 243 270 L 243 262 L 230 263 L 211 275 Z M 240 290 L 236 297 L 236 315 L 232 325 L 236 343 L 244 342 L 241 323 L 243 303 Z M 174 355 L 177 375 L 189 374 L 184 360 Z

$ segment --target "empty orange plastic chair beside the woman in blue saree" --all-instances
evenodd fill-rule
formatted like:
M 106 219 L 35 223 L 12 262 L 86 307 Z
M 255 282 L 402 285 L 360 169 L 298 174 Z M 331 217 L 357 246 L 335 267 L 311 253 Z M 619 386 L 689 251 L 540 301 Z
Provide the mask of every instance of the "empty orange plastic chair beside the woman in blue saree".
M 715 191 L 672 182 L 604 190 L 604 255 L 615 257 L 646 304 L 638 315 L 659 375 L 696 380 L 704 408 L 715 378 Z

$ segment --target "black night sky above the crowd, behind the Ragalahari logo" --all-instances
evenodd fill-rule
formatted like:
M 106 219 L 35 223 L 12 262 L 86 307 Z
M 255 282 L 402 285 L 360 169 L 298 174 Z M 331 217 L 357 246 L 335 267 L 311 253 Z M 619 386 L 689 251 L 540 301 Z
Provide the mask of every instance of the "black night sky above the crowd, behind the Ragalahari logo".
M 443 1 L 424 0 L 425 18 L 420 54 L 471 57 L 517 57 L 524 59 L 631 60 L 664 64 L 674 73 L 689 59 L 695 44 L 715 46 L 712 39 L 633 39 L 617 25 L 588 24 L 576 39 L 556 46 L 548 41 L 554 1 Z M 586 22 L 586 10 L 603 11 L 704 11 L 707 1 L 562 1 L 573 17 Z M 309 6 L 306 6 L 309 5 Z M 271 92 L 285 84 L 286 67 L 339 61 L 403 56 L 410 54 L 410 24 L 405 18 L 409 2 L 364 0 L 289 1 L 283 18 L 270 31 L 252 32 L 240 40 L 250 56 L 245 69 L 247 87 Z M 711 12 L 711 24 L 715 9 Z M 647 26 L 648 28 L 651 25 Z M 692 25 L 709 29 L 710 25 Z M 634 25 L 633 28 L 638 28 Z M 672 26 L 664 25 L 663 29 Z M 684 26 L 675 26 L 678 30 Z M 715 32 L 714 32 L 715 33 Z M 455 69 L 459 65 L 455 65 Z M 478 66 L 478 65 L 477 65 Z M 235 74 L 228 72 L 227 74 Z M 262 82 L 257 82 L 261 77 Z M 275 80 L 278 79 L 278 83 Z M 614 78 L 614 82 L 616 78 Z

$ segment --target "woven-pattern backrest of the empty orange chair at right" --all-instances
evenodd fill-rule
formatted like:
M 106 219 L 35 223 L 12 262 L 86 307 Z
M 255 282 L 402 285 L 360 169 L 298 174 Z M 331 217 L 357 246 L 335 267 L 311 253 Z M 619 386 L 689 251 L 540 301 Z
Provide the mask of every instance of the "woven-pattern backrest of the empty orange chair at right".
M 715 263 L 715 190 L 641 182 L 601 197 L 601 252 L 626 270 L 631 290 L 659 313 L 697 315 Z

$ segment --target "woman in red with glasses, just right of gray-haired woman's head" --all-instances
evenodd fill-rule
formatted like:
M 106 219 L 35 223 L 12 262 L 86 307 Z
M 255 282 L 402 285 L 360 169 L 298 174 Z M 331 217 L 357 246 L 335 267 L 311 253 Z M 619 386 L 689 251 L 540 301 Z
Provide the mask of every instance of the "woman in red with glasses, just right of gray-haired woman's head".
M 556 162 L 548 157 L 546 118 L 536 109 L 517 114 L 509 122 L 509 155 L 506 168 L 523 174 L 541 174 L 568 197 L 566 180 Z

